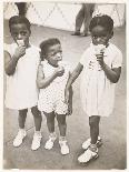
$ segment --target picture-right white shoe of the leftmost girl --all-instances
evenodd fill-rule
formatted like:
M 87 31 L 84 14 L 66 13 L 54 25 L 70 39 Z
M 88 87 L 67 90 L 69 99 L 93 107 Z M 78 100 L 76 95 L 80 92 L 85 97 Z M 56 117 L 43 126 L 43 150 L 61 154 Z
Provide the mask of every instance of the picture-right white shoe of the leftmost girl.
M 38 150 L 38 148 L 40 148 L 41 138 L 42 138 L 41 133 L 40 134 L 34 133 L 32 144 L 31 144 L 32 151 L 36 151 Z

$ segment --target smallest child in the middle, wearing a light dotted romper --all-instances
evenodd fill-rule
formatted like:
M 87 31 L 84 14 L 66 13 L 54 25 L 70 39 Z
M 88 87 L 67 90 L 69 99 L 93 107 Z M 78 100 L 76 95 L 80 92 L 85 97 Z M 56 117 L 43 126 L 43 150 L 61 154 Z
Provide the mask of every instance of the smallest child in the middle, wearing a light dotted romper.
M 54 118 L 57 117 L 60 131 L 59 144 L 62 154 L 69 153 L 66 132 L 66 117 L 71 112 L 71 94 L 69 103 L 64 103 L 64 89 L 70 75 L 70 65 L 62 61 L 62 49 L 60 41 L 56 38 L 48 39 L 40 44 L 41 63 L 38 69 L 37 83 L 40 89 L 38 109 L 47 118 L 50 132 L 44 148 L 50 150 L 57 139 L 54 132 Z M 71 93 L 71 88 L 70 88 Z

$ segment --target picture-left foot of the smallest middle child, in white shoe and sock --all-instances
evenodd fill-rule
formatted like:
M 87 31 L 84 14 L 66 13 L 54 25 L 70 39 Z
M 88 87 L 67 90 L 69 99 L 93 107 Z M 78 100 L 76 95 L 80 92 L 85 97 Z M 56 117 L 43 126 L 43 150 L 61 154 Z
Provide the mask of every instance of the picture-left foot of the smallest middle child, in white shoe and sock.
M 56 133 L 52 133 L 49 135 L 49 140 L 46 142 L 44 149 L 51 150 L 53 148 L 53 143 L 57 139 Z

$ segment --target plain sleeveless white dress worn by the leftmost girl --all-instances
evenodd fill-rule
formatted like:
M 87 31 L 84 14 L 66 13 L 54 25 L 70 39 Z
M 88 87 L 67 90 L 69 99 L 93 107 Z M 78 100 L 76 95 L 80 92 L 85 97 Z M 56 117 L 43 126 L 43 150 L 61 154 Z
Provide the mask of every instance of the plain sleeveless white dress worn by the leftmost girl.
M 6 44 L 4 50 L 12 57 L 16 43 Z M 7 75 L 6 107 L 22 110 L 37 105 L 38 88 L 36 83 L 39 65 L 39 48 L 30 45 L 17 63 L 14 74 Z

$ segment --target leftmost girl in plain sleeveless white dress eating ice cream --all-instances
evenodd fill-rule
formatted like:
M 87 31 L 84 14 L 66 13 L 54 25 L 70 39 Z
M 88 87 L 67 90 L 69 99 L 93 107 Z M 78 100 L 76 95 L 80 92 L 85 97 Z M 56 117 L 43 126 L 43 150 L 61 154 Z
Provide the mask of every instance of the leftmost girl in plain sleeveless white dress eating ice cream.
M 19 132 L 13 145 L 19 146 L 27 135 L 24 123 L 28 109 L 34 119 L 32 150 L 40 146 L 41 114 L 38 111 L 37 70 L 40 61 L 39 48 L 30 44 L 30 22 L 27 18 L 14 16 L 9 20 L 13 43 L 4 45 L 4 70 L 7 74 L 6 107 L 19 111 Z

